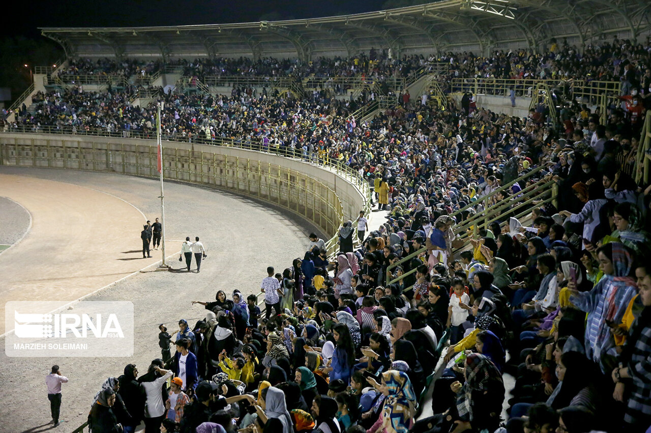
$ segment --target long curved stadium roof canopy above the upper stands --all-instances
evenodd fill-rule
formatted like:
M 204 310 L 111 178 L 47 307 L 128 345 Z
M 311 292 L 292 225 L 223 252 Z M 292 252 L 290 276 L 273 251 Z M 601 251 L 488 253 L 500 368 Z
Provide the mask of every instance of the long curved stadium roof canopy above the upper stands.
M 170 27 L 43 28 L 68 57 L 352 56 L 579 47 L 651 32 L 648 0 L 443 0 L 307 20 Z

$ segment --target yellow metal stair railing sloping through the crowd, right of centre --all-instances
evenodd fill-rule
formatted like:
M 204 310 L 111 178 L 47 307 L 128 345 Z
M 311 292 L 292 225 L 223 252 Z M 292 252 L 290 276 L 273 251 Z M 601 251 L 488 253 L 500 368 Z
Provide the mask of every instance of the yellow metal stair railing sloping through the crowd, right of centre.
M 493 198 L 496 198 L 499 192 L 509 190 L 515 183 L 521 184 L 530 181 L 536 177 L 535 175 L 544 168 L 544 166 L 534 168 L 534 170 L 531 170 L 531 172 L 518 177 L 514 181 L 511 181 L 506 185 L 499 187 L 498 189 L 495 189 L 494 191 L 490 192 L 490 194 L 486 194 L 486 196 L 480 197 L 478 201 L 471 202 L 458 211 L 451 213 L 450 217 L 457 217 L 459 220 L 464 211 L 470 209 L 471 207 L 477 206 L 478 202 L 482 202 L 482 205 L 484 207 L 483 211 L 458 222 L 452 228 L 452 231 L 456 235 L 456 239 L 461 239 L 464 241 L 464 244 L 460 248 L 457 248 L 455 252 L 459 252 L 467 248 L 471 237 L 476 236 L 480 228 L 489 228 L 492 222 L 503 220 L 504 218 L 508 217 L 522 218 L 531 212 L 531 207 L 534 205 L 543 205 L 545 203 L 555 202 L 558 196 L 557 183 L 555 181 L 541 179 L 540 181 L 532 183 L 528 187 L 523 188 L 517 194 L 510 195 L 504 200 L 493 204 Z M 400 261 L 394 263 L 393 265 L 389 265 L 389 267 L 387 267 L 385 276 L 386 285 L 400 282 L 407 276 L 413 274 L 416 271 L 415 269 L 412 269 L 409 272 L 405 272 L 402 274 L 402 276 L 392 278 L 391 271 L 396 267 L 404 264 L 406 261 L 413 259 L 413 257 L 420 256 L 426 251 L 426 247 L 423 247 L 420 250 L 409 254 L 409 256 L 400 259 Z M 404 291 L 409 291 L 412 289 L 412 287 L 413 285 L 406 287 Z

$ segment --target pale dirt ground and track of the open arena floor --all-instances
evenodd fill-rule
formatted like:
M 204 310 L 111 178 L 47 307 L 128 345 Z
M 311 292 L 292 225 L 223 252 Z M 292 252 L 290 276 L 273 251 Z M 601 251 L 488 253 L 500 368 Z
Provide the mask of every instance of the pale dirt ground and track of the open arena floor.
M 0 196 L 21 203 L 34 218 L 25 239 L 0 255 L 0 299 L 21 300 L 28 294 L 29 300 L 76 299 L 159 259 L 159 251 L 152 253 L 157 259 L 138 259 L 143 216 L 137 211 L 150 220 L 158 217 L 159 192 L 153 179 L 0 167 Z M 11 397 L 0 405 L 0 432 L 50 430 L 44 376 L 53 363 L 70 382 L 62 391 L 65 422 L 51 431 L 71 432 L 85 421 L 105 378 L 122 374 L 127 363 L 145 371 L 160 356 L 159 323 L 171 322 L 168 327 L 174 330 L 178 319 L 195 322 L 203 311 L 190 302 L 212 300 L 219 289 L 256 293 L 268 265 L 282 272 L 307 246 L 304 222 L 261 203 L 174 183 L 165 184 L 165 200 L 168 255 L 178 251 L 176 241 L 200 236 L 208 249 L 201 274 L 139 272 L 86 299 L 133 302 L 133 358 L 8 358 L 1 339 L 0 393 Z M 76 263 L 79 259 L 83 266 Z M 180 267 L 176 257 L 172 264 Z

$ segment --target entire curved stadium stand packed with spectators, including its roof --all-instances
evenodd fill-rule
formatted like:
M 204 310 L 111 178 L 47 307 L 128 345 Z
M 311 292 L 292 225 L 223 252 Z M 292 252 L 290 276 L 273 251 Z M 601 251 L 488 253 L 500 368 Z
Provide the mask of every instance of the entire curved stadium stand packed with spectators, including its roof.
M 44 29 L 68 62 L 3 133 L 152 138 L 165 101 L 165 139 L 347 166 L 389 215 L 370 233 L 346 215 L 257 296 L 219 291 L 202 321 L 161 332 L 168 359 L 148 378 L 182 376 L 164 431 L 651 426 L 648 5 L 443 1 L 190 27 Z M 112 43 L 91 53 L 98 38 Z M 108 58 L 147 49 L 162 60 Z M 525 115 L 479 95 L 525 99 Z M 117 422 L 137 425 L 145 400 L 123 390 L 142 384 L 117 381 L 131 414 Z

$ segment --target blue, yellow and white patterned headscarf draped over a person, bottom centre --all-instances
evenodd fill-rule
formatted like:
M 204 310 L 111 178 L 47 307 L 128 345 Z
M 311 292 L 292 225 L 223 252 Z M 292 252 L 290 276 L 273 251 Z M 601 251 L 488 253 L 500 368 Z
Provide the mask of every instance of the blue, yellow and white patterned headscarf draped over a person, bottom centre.
M 383 427 L 388 433 L 408 433 L 415 415 L 416 394 L 409 376 L 403 371 L 382 373 L 389 395 L 383 409 Z

